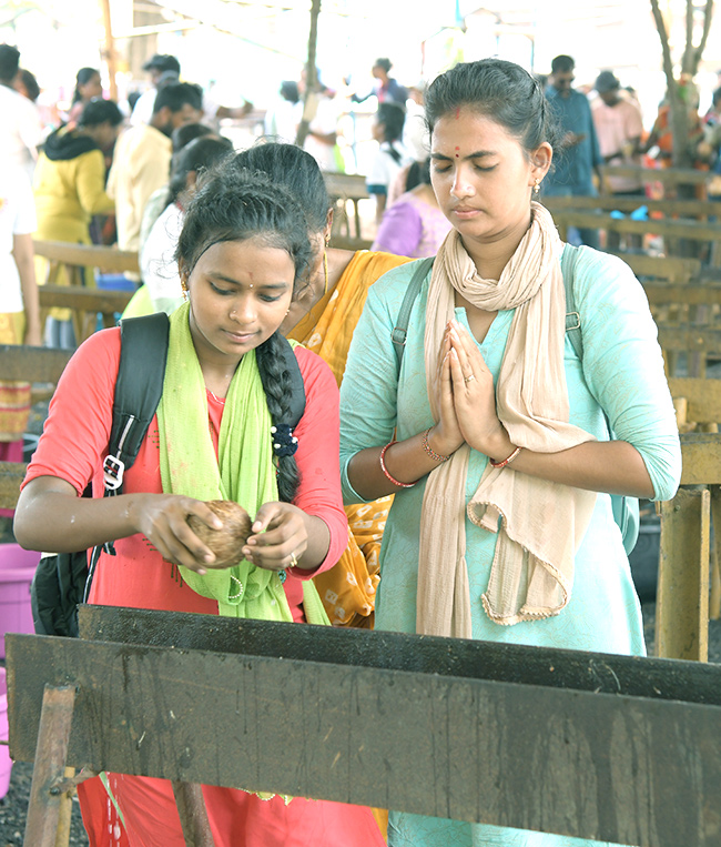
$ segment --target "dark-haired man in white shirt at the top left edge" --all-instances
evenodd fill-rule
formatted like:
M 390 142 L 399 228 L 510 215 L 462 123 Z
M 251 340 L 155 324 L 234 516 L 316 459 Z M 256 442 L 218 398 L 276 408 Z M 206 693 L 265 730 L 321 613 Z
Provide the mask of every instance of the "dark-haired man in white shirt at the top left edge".
M 20 68 L 20 51 L 0 44 L 0 162 L 23 170 L 32 181 L 42 141 L 38 107 L 13 88 Z

